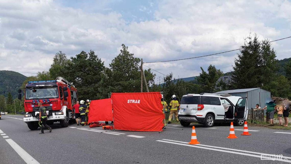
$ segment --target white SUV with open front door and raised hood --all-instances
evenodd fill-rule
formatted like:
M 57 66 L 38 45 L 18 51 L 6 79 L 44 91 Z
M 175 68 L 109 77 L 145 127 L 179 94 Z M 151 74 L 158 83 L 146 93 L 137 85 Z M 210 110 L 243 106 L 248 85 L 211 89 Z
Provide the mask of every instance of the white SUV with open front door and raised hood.
M 227 112 L 225 107 L 228 106 Z M 247 100 L 229 94 L 187 94 L 180 102 L 178 118 L 182 126 L 198 122 L 210 128 L 216 123 L 235 122 L 244 125 L 247 119 Z

